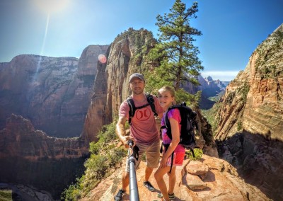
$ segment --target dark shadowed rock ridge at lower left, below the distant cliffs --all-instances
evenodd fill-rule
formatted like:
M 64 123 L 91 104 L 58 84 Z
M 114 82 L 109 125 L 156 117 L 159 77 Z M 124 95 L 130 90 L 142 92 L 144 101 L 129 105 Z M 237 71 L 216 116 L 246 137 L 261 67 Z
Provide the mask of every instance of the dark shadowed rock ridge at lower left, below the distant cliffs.
M 11 115 L 0 131 L 1 183 L 34 186 L 55 199 L 81 176 L 87 156 L 83 139 L 49 137 L 18 115 Z

